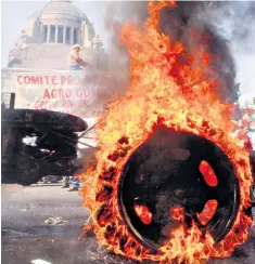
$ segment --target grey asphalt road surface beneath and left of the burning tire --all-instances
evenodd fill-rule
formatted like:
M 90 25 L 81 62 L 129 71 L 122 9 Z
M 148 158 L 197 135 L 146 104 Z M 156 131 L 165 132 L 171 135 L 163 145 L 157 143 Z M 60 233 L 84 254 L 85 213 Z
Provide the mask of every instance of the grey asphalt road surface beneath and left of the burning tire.
M 78 239 L 89 213 L 77 192 L 62 189 L 60 184 L 2 185 L 1 189 L 2 264 L 28 264 L 38 259 L 51 264 L 136 263 L 105 251 L 92 234 Z M 255 264 L 255 236 L 231 258 L 209 263 Z

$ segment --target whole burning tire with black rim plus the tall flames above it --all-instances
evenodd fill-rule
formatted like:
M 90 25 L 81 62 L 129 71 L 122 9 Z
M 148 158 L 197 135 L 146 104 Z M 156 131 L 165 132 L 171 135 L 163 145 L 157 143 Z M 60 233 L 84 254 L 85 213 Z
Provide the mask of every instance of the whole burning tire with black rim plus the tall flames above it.
M 201 263 L 246 240 L 253 179 L 248 153 L 232 136 L 232 107 L 217 93 L 232 82 L 212 74 L 220 63 L 214 41 L 191 47 L 193 32 L 186 39 L 171 37 L 171 25 L 162 30 L 162 12 L 175 9 L 174 1 L 150 2 L 142 29 L 122 28 L 130 85 L 102 117 L 98 164 L 81 175 L 82 196 L 111 251 Z

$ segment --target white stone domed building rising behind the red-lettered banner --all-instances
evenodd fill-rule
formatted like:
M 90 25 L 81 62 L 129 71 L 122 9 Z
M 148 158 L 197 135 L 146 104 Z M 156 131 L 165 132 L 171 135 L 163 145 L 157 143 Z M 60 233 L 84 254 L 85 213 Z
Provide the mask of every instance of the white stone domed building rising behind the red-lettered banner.
M 89 61 L 95 58 L 99 47 L 102 49 L 86 14 L 69 0 L 52 0 L 28 18 L 10 50 L 8 67 L 67 69 L 73 44 L 80 44 L 81 56 Z

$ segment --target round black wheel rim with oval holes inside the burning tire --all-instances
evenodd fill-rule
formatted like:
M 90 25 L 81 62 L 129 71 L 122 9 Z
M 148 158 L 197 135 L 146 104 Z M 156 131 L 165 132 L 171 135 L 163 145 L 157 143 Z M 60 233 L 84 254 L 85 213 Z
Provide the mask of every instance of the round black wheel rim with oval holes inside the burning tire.
M 214 170 L 217 186 L 206 184 L 199 169 L 202 161 Z M 212 199 L 217 200 L 217 209 L 203 225 L 196 215 Z M 232 163 L 214 143 L 191 133 L 158 128 L 126 162 L 118 201 L 129 232 L 144 247 L 157 250 L 167 239 L 164 230 L 175 226 L 169 211 L 177 206 L 184 209 L 187 223 L 193 219 L 215 241 L 222 240 L 235 220 L 240 188 Z M 149 209 L 150 224 L 141 222 L 136 204 Z

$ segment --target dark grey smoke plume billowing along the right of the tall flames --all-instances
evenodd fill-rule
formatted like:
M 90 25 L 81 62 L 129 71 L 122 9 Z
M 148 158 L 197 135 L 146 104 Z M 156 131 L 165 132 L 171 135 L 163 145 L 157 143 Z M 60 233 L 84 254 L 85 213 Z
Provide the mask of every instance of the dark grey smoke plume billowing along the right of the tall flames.
M 171 41 L 181 41 L 193 55 L 199 49 L 212 55 L 209 67 L 205 67 L 203 74 L 217 80 L 216 92 L 221 100 L 233 102 L 237 98 L 235 64 L 229 41 L 211 18 L 211 13 L 225 6 L 226 2 L 178 2 L 177 8 L 163 10 L 161 27 Z

